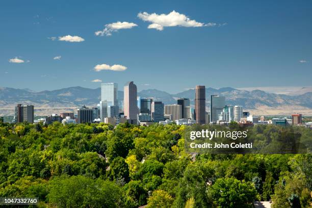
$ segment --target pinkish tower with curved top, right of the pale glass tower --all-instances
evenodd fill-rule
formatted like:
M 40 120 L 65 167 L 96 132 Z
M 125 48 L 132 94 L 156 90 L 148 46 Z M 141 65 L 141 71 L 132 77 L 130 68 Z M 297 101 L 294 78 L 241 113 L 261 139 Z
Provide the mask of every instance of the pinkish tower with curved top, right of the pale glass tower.
M 123 87 L 123 111 L 127 119 L 137 119 L 137 86 L 133 82 L 127 82 Z

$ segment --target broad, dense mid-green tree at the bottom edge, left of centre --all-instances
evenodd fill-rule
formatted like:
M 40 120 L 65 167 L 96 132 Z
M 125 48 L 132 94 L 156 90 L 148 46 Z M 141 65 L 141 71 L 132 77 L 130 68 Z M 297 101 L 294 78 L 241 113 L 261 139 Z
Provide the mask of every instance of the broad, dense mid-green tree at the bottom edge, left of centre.
M 123 206 L 120 188 L 111 181 L 85 176 L 55 177 L 49 181 L 48 202 L 57 207 Z

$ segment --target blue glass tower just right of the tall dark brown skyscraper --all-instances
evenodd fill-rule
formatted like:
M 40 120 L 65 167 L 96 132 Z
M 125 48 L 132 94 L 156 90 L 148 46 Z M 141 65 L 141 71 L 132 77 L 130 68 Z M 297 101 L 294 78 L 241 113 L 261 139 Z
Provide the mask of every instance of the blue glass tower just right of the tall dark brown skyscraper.
M 219 114 L 225 107 L 225 97 L 219 95 L 210 96 L 210 122 L 215 123 L 219 119 Z

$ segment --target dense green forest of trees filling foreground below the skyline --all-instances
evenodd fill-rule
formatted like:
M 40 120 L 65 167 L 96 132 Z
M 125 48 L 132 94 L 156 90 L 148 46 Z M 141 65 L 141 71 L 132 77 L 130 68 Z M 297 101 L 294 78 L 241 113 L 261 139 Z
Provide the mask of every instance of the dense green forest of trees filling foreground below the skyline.
M 311 207 L 311 154 L 198 154 L 188 126 L 0 122 L 0 197 L 39 207 Z M 231 128 L 231 126 L 230 126 Z M 268 141 L 279 126 L 250 127 Z M 296 130 L 305 140 L 312 131 Z

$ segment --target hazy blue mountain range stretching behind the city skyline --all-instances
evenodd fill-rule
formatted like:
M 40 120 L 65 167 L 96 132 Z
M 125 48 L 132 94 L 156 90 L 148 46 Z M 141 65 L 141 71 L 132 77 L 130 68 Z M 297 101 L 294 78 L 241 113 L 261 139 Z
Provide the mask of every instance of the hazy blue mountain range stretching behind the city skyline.
M 240 105 L 244 109 L 254 112 L 266 110 L 279 110 L 277 114 L 288 112 L 306 112 L 312 115 L 312 92 L 303 89 L 303 93 L 291 95 L 267 93 L 262 90 L 238 90 L 231 87 L 214 89 L 206 88 L 206 106 L 209 106 L 210 95 L 226 97 L 227 105 Z M 177 94 L 170 94 L 157 89 L 142 90 L 138 92 L 141 98 L 161 100 L 167 104 L 176 103 L 176 99 L 190 98 L 194 105 L 195 90 L 189 89 Z M 83 87 L 69 87 L 52 91 L 34 92 L 29 89 L 0 88 L 0 114 L 4 109 L 12 109 L 17 103 L 34 105 L 35 108 L 76 108 L 79 106 L 96 106 L 100 100 L 100 88 L 89 89 Z M 123 100 L 123 91 L 118 91 L 118 100 Z M 11 112 L 9 110 L 9 112 Z M 268 111 L 269 112 L 269 111 Z M 11 113 L 9 113 L 11 114 Z M 283 114 L 285 115 L 285 114 Z

